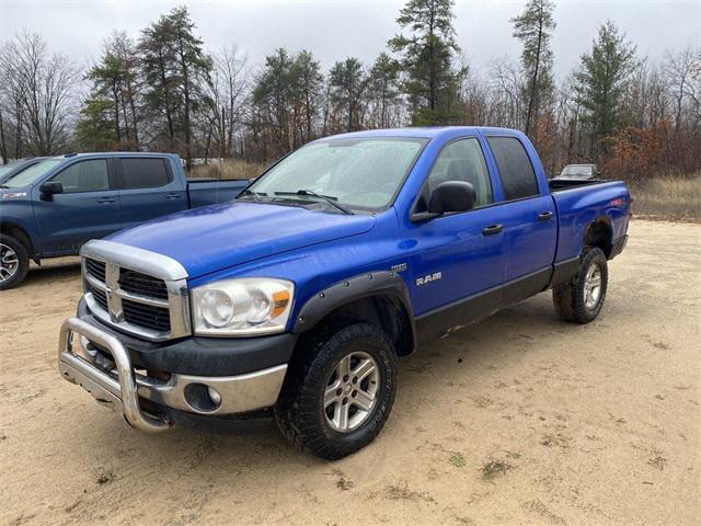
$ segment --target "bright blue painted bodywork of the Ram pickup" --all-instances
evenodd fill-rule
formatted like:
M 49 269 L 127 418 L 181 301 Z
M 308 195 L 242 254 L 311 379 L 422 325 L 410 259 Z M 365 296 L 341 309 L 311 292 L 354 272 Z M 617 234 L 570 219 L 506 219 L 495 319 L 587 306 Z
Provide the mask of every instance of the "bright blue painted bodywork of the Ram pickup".
M 504 192 L 487 136 L 521 141 L 536 172 L 540 195 L 503 202 Z M 183 264 L 189 285 L 235 276 L 271 276 L 296 284 L 295 309 L 319 290 L 370 271 L 401 272 L 415 316 L 466 296 L 518 279 L 582 253 L 586 228 L 612 226 L 611 241 L 628 229 L 630 195 L 621 182 L 578 186 L 551 194 L 542 164 L 528 138 L 501 128 L 447 127 L 369 130 L 336 138 L 416 137 L 429 139 L 393 205 L 376 215 L 342 215 L 325 207 L 232 203 L 185 211 L 113 236 L 113 241 L 169 255 Z M 485 155 L 495 204 L 415 224 L 416 196 L 441 148 L 474 137 Z M 612 206 L 613 199 L 622 205 Z M 538 215 L 553 218 L 539 221 Z M 483 228 L 504 230 L 483 236 Z M 420 287 L 416 279 L 440 272 Z

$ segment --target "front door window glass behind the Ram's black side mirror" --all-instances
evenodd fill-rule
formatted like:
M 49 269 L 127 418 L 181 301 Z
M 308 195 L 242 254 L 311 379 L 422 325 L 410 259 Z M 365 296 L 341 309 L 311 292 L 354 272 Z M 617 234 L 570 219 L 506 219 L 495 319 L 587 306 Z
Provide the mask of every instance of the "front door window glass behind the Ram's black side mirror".
M 490 172 L 478 139 L 456 140 L 440 151 L 426 180 L 429 195 L 438 184 L 446 181 L 472 183 L 475 208 L 494 202 Z

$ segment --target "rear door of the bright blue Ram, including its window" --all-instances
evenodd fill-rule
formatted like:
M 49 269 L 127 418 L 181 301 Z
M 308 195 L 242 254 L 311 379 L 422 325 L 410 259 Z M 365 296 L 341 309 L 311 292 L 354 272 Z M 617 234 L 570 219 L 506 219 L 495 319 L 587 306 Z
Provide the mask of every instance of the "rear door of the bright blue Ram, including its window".
M 540 188 L 524 142 L 514 136 L 487 136 L 501 181 L 506 275 L 504 302 L 542 290 L 550 282 L 558 237 L 552 196 Z

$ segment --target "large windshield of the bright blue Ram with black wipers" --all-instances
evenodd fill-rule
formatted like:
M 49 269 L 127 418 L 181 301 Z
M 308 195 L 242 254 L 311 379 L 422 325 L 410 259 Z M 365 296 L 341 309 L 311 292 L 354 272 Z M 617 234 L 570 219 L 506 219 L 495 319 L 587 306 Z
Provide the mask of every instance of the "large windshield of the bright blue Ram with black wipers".
M 382 209 L 425 144 L 426 139 L 378 137 L 315 141 L 273 167 L 246 196 L 310 203 L 323 196 L 342 207 Z

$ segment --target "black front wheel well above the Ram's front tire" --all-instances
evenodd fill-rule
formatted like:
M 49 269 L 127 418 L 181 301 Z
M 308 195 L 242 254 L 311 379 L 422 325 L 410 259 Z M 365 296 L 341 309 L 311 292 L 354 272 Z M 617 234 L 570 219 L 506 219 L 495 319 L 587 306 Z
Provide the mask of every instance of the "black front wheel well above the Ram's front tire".
M 391 295 L 369 296 L 353 300 L 324 316 L 310 332 L 324 330 L 338 322 L 365 321 L 377 325 L 392 340 L 398 356 L 414 351 L 414 328 L 400 299 Z

